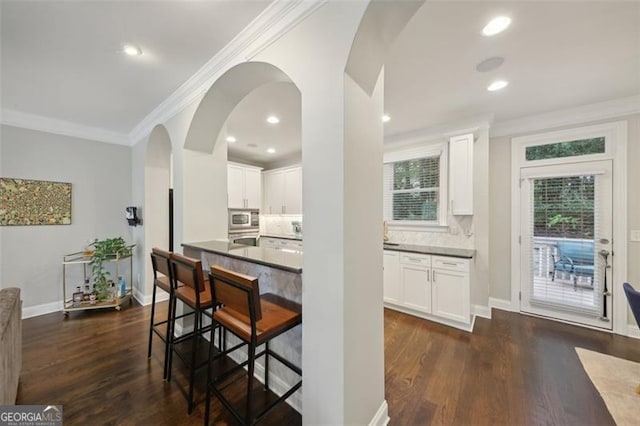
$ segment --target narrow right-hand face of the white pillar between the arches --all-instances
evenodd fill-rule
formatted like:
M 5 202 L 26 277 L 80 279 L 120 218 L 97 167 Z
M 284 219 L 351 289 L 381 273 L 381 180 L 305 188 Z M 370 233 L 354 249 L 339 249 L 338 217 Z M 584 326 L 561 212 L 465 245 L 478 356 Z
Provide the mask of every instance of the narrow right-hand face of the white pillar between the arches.
M 344 340 L 350 342 L 345 343 L 344 363 L 350 387 L 345 395 L 346 424 L 370 419 L 385 399 L 380 208 L 383 93 L 384 72 L 371 97 L 345 77 Z M 364 392 L 368 398 L 362 397 Z

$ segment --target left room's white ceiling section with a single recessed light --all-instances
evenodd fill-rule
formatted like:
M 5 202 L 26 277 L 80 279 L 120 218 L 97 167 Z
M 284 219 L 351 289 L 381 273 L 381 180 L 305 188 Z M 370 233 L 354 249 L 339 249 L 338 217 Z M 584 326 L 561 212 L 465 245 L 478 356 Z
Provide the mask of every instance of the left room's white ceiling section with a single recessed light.
M 2 0 L 2 108 L 128 134 L 268 4 Z

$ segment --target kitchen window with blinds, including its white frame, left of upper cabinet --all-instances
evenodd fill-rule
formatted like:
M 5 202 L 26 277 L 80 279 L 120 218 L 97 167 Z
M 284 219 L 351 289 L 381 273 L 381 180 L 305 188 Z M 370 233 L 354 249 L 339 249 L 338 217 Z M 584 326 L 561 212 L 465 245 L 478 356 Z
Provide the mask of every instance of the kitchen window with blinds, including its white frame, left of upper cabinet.
M 385 156 L 386 221 L 396 225 L 446 225 L 445 146 Z

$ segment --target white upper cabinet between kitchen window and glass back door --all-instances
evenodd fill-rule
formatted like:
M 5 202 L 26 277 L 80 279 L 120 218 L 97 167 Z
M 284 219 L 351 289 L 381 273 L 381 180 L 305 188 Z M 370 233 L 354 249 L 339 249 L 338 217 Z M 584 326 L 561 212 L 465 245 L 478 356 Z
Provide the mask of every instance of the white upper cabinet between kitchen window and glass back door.
M 449 198 L 451 214 L 473 214 L 473 134 L 449 140 Z

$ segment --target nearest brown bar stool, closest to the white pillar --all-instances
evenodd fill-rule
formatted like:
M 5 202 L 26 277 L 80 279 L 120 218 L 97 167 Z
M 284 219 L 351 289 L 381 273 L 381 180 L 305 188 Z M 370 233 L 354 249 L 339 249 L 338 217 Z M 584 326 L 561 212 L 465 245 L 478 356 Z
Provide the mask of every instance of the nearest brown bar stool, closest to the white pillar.
M 220 307 L 214 311 L 213 320 L 238 337 L 241 342 L 232 348 L 224 349 L 209 362 L 207 371 L 207 400 L 205 407 L 205 425 L 209 424 L 209 405 L 211 393 L 220 400 L 231 414 L 242 424 L 252 425 L 260 421 L 279 403 L 284 402 L 302 386 L 302 379 L 293 385 L 281 397 L 270 403 L 259 413 L 253 413 L 253 382 L 255 361 L 265 356 L 265 390 L 269 390 L 269 358 L 272 357 L 284 366 L 302 376 L 302 370 L 269 349 L 269 341 L 282 333 L 302 323 L 302 309 L 297 303 L 291 302 L 275 294 L 260 296 L 258 279 L 241 275 L 219 266 L 212 266 L 209 274 L 209 284 L 214 303 Z M 213 338 L 211 338 L 213 342 Z M 258 346 L 265 348 L 256 354 Z M 213 349 L 213 343 L 211 343 Z M 228 355 L 242 347 L 247 347 L 248 359 L 225 372 L 214 372 L 212 367 L 215 359 Z M 210 350 L 210 356 L 213 351 Z M 247 365 L 247 397 L 246 412 L 243 417 L 237 409 L 222 395 L 218 384 L 236 371 Z M 215 375 L 214 375 L 215 373 Z

